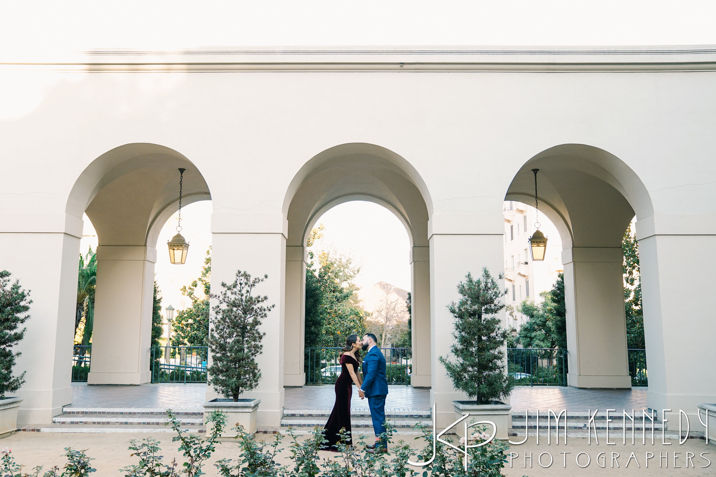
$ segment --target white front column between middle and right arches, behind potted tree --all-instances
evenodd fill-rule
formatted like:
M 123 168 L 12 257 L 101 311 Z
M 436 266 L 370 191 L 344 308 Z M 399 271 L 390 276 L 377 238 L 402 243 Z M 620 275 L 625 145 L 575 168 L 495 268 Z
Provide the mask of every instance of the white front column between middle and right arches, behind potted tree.
M 453 388 L 445 368 L 437 360 L 448 357 L 455 330 L 450 302 L 460 299 L 458 283 L 472 272 L 473 277 L 488 267 L 493 277 L 503 272 L 504 217 L 500 215 L 442 215 L 430 220 L 430 404 L 437 405 L 437 426 L 455 421 L 453 400 L 467 395 Z M 503 280 L 498 280 L 504 287 Z M 503 312 L 504 313 L 504 312 Z M 504 317 L 500 315 L 500 320 Z M 454 359 L 450 355 L 450 359 Z M 507 400 L 509 403 L 509 400 Z

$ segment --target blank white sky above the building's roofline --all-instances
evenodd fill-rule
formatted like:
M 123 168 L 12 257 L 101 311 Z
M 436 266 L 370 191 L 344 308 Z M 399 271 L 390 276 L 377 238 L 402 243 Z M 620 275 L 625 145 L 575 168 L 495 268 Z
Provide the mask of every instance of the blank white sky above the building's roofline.
M 125 47 L 715 44 L 716 2 L 3 1 L 0 53 Z

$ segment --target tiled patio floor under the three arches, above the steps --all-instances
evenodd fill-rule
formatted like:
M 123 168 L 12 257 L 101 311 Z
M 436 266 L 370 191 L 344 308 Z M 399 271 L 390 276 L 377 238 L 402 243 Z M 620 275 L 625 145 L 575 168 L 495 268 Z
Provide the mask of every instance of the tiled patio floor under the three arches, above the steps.
M 430 389 L 389 386 L 387 409 L 430 409 Z M 204 403 L 205 384 L 73 385 L 74 408 L 168 408 L 200 407 Z M 287 410 L 330 410 L 335 400 L 332 385 L 286 388 Z M 577 389 L 558 386 L 518 386 L 512 394 L 513 410 L 529 409 L 642 409 L 647 407 L 647 388 Z M 368 408 L 366 400 L 353 393 L 353 410 Z

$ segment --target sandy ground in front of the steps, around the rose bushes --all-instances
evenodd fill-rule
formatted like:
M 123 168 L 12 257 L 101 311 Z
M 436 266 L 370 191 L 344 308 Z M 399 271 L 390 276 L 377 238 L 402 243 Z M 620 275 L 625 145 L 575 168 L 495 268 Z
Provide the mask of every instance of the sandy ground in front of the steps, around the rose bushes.
M 64 448 L 67 446 L 71 446 L 72 448 L 86 448 L 87 454 L 95 458 L 93 465 L 97 468 L 97 472 L 93 475 L 97 477 L 122 476 L 124 474 L 118 469 L 130 463 L 137 462 L 135 457 L 130 457 L 130 451 L 127 451 L 127 442 L 132 438 L 142 439 L 150 436 L 162 442 L 162 455 L 165 456 L 165 461 L 171 461 L 172 458 L 177 458 L 180 464 L 183 463 L 182 456 L 177 451 L 178 444 L 171 441 L 172 434 L 165 433 L 100 434 L 21 432 L 1 439 L 0 448 L 10 447 L 16 461 L 26 466 L 25 471 L 29 471 L 30 468 L 37 465 L 45 466 L 45 470 L 53 465 L 64 465 L 65 459 L 63 453 Z M 599 442 L 599 446 L 596 446 L 594 441 L 592 441 L 590 446 L 587 444 L 586 439 L 572 438 L 568 439 L 566 446 L 563 443 L 556 446 L 554 441 L 552 441 L 551 446 L 548 446 L 546 439 L 541 438 L 540 445 L 538 446 L 536 441 L 530 438 L 527 443 L 521 446 L 512 446 L 511 451 L 518 453 L 518 457 L 513 460 L 512 468 L 508 466 L 503 473 L 506 476 L 716 476 L 716 446 L 706 446 L 705 441 L 690 439 L 682 446 L 679 446 L 678 443 L 672 443 L 672 446 L 664 446 L 660 441 L 656 441 L 654 446 L 652 446 L 648 439 L 646 446 L 642 445 L 641 441 L 638 441 L 634 446 L 631 444 L 624 446 L 621 444 L 621 438 L 619 438 L 619 443 L 616 446 L 606 446 L 606 443 L 601 439 Z M 279 460 L 286 464 L 291 462 L 289 460 L 290 453 L 287 449 L 288 445 L 289 439 L 286 438 L 281 444 L 281 448 L 283 448 L 284 451 L 279 454 L 279 456 L 281 456 Z M 654 458 L 649 459 L 648 468 L 644 459 L 647 451 L 655 455 Z M 537 462 L 538 456 L 545 452 L 550 453 L 553 458 L 553 463 L 548 468 L 542 468 Z M 566 455 L 566 467 L 563 464 L 563 454 L 559 452 L 569 452 L 569 454 Z M 591 456 L 591 463 L 586 468 L 579 468 L 574 461 L 576 454 L 580 452 L 589 453 Z M 597 462 L 597 455 L 601 452 L 606 452 L 605 468 L 601 468 Z M 616 463 L 619 463 L 618 468 L 616 464 L 614 467 L 611 467 L 612 452 L 619 453 L 619 457 L 616 458 Z M 632 459 L 627 467 L 627 460 L 632 452 L 634 452 L 641 467 L 637 466 L 634 459 Z M 659 468 L 659 452 L 662 454 L 668 453 L 668 467 L 663 467 L 664 460 L 662 459 L 662 467 Z M 679 458 L 677 458 L 677 466 L 681 466 L 681 468 L 674 468 L 673 466 L 674 452 L 680 452 L 680 454 L 678 454 Z M 686 467 L 687 452 L 695 454 L 695 457 L 692 458 L 692 463 L 695 468 L 691 466 Z M 710 458 L 713 462 L 707 468 L 702 468 L 702 466 L 707 465 L 707 461 L 700 457 L 700 453 L 702 452 L 709 452 L 706 454 L 706 457 Z M 216 473 L 216 469 L 211 466 L 211 463 L 220 458 L 238 458 L 238 453 L 238 445 L 236 443 L 221 443 L 212 457 L 210 465 L 205 467 L 206 474 L 208 476 L 217 476 L 218 473 Z M 532 453 L 531 467 L 529 460 L 527 461 L 527 468 L 524 467 L 525 453 Z M 321 452 L 321 458 L 335 458 L 335 455 L 329 452 Z M 547 465 L 549 461 L 549 456 L 544 454 L 542 456 L 542 463 Z M 586 456 L 582 455 L 580 457 L 580 463 L 583 466 L 586 464 Z

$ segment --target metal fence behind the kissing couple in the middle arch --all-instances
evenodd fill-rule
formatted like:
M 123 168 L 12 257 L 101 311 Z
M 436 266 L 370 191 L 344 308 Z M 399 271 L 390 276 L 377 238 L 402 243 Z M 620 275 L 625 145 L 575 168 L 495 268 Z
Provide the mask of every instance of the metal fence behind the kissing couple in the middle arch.
M 342 348 L 306 348 L 304 370 L 307 385 L 334 384 L 341 375 Z M 385 357 L 388 384 L 410 385 L 412 355 L 410 348 L 378 348 Z M 361 352 L 364 356 L 365 353 Z

